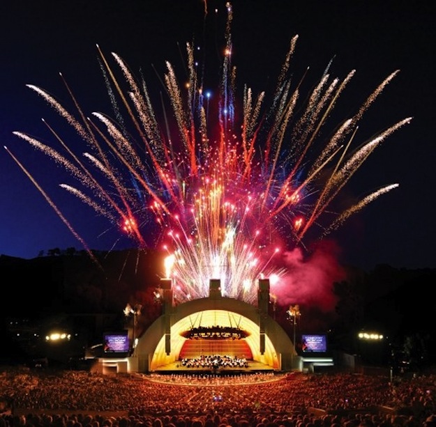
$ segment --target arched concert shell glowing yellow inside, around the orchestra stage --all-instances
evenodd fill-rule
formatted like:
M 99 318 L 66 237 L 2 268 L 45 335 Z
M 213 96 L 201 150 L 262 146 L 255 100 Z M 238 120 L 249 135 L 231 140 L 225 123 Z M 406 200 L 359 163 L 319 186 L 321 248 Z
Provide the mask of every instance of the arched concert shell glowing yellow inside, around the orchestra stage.
M 165 309 L 164 309 L 165 311 Z M 256 306 L 227 297 L 200 298 L 172 306 L 142 334 L 133 355 L 140 372 L 179 361 L 186 338 L 181 332 L 191 327 L 230 326 L 249 333 L 245 339 L 253 360 L 278 371 L 292 370 L 290 337 L 268 314 Z

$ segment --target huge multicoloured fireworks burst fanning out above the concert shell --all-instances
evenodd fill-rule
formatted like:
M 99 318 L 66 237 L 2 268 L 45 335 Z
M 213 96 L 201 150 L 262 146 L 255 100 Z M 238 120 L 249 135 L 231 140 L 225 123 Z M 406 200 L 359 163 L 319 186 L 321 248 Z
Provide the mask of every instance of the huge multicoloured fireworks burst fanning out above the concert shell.
M 280 251 L 305 247 L 313 228 L 323 238 L 398 186 L 386 185 L 340 211 L 334 205 L 375 148 L 411 120 L 405 118 L 353 148 L 361 119 L 396 71 L 354 115 L 330 124 L 333 132 L 327 137 L 322 131 L 354 71 L 345 79 L 333 78 L 329 64 L 313 90 L 301 97 L 300 82 L 290 72 L 298 36 L 290 42 L 269 105 L 265 93 L 255 95 L 248 86 L 237 97 L 231 24 L 227 5 L 222 78 L 213 98 L 190 43 L 187 84 L 166 64 L 163 84 L 169 102 L 162 118 L 145 79 L 135 78 L 118 54 L 109 60 L 98 47 L 114 118 L 100 112 L 87 118 L 66 82 L 74 114 L 47 91 L 28 85 L 87 143 L 87 153 L 74 153 L 47 122 L 61 150 L 14 132 L 70 172 L 74 183 L 61 187 L 102 220 L 127 233 L 137 247 L 167 251 L 165 276 L 174 278 L 174 297 L 181 302 L 208 296 L 210 279 L 220 279 L 223 295 L 246 302 L 257 298 L 261 277 L 269 277 L 273 288 L 273 277 L 283 274 L 276 262 Z M 86 248 L 68 219 L 33 183 Z

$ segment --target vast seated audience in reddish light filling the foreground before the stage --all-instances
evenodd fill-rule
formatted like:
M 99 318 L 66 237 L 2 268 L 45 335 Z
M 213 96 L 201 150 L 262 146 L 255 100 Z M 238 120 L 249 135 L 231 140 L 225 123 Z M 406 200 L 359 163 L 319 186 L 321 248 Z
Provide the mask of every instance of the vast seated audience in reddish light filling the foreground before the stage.
M 436 427 L 436 375 L 0 372 L 0 427 Z

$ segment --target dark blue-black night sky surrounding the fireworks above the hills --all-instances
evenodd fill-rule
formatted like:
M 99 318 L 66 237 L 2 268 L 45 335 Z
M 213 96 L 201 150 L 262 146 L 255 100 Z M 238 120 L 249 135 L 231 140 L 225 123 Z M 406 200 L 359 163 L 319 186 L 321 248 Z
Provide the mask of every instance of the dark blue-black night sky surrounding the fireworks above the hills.
M 357 138 L 365 141 L 403 118 L 413 117 L 412 123 L 375 150 L 345 194 L 361 197 L 382 185 L 400 186 L 363 208 L 329 238 L 340 248 L 341 261 L 365 269 L 382 263 L 436 267 L 436 3 L 241 0 L 234 2 L 233 13 L 232 61 L 239 89 L 248 84 L 254 91 L 273 91 L 296 34 L 292 68 L 300 79 L 309 67 L 307 89 L 332 58 L 331 74 L 340 79 L 356 69 L 333 121 L 355 111 L 391 72 L 400 70 L 366 114 Z M 135 74 L 141 70 L 152 89 L 163 91 L 159 79 L 165 61 L 183 74 L 184 45 L 193 38 L 196 45 L 207 46 L 206 78 L 218 81 L 225 16 L 225 1 L 1 2 L 0 254 L 34 258 L 56 247 L 82 249 L 8 150 L 88 247 L 109 250 L 130 244 L 119 230 L 59 188 L 68 173 L 13 135 L 18 130 L 51 145 L 56 141 L 40 119 L 59 133 L 67 129 L 25 85 L 40 86 L 63 102 L 69 98 L 61 72 L 86 114 L 110 114 L 97 44 L 107 56 L 119 54 Z M 68 131 L 64 134 L 69 143 L 80 144 Z

